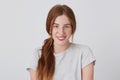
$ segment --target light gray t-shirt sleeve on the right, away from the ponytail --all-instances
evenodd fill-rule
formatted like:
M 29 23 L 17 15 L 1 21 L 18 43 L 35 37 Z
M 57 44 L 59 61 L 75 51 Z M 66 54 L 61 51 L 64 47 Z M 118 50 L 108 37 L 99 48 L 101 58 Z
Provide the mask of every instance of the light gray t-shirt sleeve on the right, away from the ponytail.
M 82 48 L 82 68 L 84 68 L 85 66 L 87 66 L 90 63 L 94 63 L 95 64 L 95 56 L 92 52 L 92 50 L 90 49 L 90 47 L 88 46 L 84 46 Z

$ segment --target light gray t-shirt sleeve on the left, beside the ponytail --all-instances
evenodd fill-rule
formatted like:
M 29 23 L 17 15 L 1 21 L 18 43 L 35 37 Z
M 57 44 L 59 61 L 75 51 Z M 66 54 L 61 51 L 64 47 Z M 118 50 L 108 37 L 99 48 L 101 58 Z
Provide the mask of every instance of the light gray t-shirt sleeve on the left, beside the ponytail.
M 40 49 L 35 49 L 32 53 L 32 55 L 30 56 L 29 58 L 29 61 L 28 61 L 28 66 L 26 67 L 26 69 L 29 71 L 30 69 L 33 69 L 33 70 L 36 70 L 37 68 L 37 63 L 38 63 L 38 60 L 40 58 L 40 54 L 41 54 L 41 51 Z

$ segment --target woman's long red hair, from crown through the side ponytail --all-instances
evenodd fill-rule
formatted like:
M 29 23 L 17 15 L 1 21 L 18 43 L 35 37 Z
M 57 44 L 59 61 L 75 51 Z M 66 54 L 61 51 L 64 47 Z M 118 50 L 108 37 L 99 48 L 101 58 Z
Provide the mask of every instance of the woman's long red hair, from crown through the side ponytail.
M 51 36 L 44 41 L 41 49 L 41 57 L 37 65 L 37 80 L 53 80 L 55 72 L 54 40 L 52 39 L 52 27 L 56 17 L 66 15 L 72 26 L 72 34 L 76 30 L 76 20 L 72 9 L 66 5 L 55 5 L 49 11 L 46 20 L 46 31 Z

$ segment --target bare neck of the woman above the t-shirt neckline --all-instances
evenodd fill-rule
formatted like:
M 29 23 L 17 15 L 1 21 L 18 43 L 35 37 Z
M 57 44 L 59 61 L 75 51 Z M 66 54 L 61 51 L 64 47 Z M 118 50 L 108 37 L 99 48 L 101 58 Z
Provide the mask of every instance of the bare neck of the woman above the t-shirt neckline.
M 65 51 L 70 46 L 70 42 L 65 45 L 54 45 L 55 54 Z

